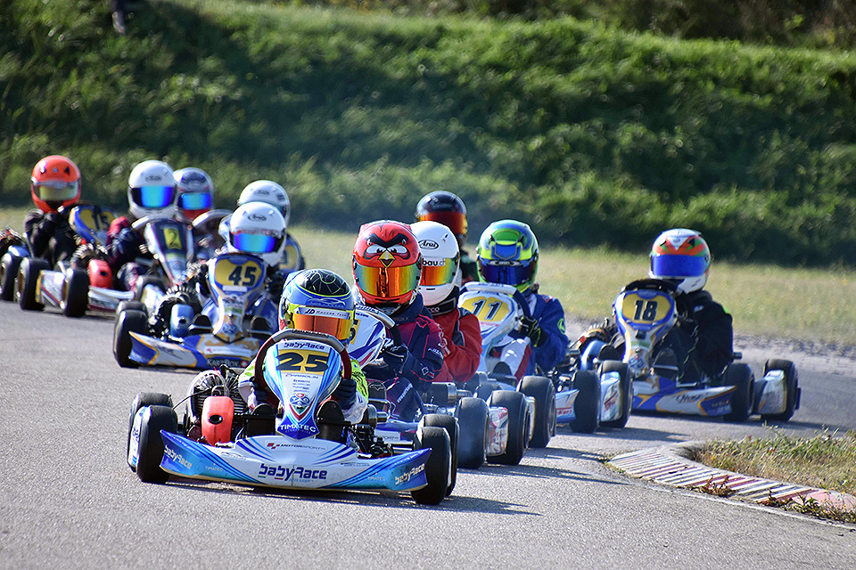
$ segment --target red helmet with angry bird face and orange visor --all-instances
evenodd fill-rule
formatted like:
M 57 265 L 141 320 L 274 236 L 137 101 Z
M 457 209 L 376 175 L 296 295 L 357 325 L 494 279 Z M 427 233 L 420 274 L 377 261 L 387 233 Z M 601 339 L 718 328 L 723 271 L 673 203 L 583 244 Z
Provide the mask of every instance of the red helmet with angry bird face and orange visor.
M 354 281 L 366 305 L 396 307 L 416 298 L 422 256 L 410 226 L 382 220 L 359 229 Z

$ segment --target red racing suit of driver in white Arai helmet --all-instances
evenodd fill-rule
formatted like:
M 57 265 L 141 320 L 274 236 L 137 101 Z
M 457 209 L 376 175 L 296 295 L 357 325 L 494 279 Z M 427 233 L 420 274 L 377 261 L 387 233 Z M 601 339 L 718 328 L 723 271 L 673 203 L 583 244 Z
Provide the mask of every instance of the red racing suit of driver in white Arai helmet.
M 473 378 L 481 360 L 481 326 L 478 318 L 457 306 L 457 288 L 449 298 L 428 307 L 443 331 L 443 367 L 434 381 L 463 384 Z

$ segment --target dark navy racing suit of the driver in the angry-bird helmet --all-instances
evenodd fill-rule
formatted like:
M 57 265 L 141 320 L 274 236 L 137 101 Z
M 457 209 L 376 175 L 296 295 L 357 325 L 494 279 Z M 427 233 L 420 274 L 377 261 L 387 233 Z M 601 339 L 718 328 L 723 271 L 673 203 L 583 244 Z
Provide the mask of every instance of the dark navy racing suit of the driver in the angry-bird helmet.
M 424 394 L 442 369 L 443 333 L 425 308 L 422 295 L 417 294 L 413 303 L 399 307 L 390 317 L 402 344 L 385 347 L 383 363 L 366 364 L 366 377 L 383 381 L 393 419 L 412 421 L 417 412 L 424 412 L 415 392 Z

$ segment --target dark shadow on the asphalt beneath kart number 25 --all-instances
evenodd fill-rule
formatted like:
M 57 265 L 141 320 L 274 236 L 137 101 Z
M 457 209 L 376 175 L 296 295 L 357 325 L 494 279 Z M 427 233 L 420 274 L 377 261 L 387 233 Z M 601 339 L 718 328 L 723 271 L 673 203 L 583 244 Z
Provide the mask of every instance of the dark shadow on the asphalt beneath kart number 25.
M 460 470 L 458 474 L 468 471 Z M 499 473 L 497 473 L 499 475 Z M 530 474 L 526 474 L 530 475 Z M 497 515 L 539 515 L 538 512 L 524 510 L 526 505 L 485 499 L 483 497 L 466 497 L 452 493 L 452 496 L 439 505 L 418 505 L 410 497 L 410 493 L 394 493 L 391 491 L 307 491 L 307 490 L 278 490 L 261 487 L 242 487 L 222 483 L 210 483 L 193 479 L 170 479 L 169 486 L 184 487 L 203 493 L 220 493 L 233 496 L 252 496 L 253 500 L 270 501 L 317 501 L 343 505 L 366 505 L 370 507 L 386 507 L 391 509 L 431 509 L 451 512 L 480 512 Z

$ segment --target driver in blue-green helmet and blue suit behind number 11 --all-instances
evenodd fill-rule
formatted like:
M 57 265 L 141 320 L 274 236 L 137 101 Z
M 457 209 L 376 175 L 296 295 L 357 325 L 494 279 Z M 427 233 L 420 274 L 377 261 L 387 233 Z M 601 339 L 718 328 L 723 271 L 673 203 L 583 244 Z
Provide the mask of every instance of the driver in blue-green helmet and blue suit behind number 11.
M 531 316 L 523 317 L 510 335 L 516 342 L 504 346 L 501 354 L 486 355 L 489 366 L 495 363 L 493 372 L 517 379 L 534 374 L 536 367 L 552 370 L 564 358 L 568 345 L 562 303 L 538 292 L 538 255 L 535 234 L 528 224 L 516 220 L 490 224 L 479 239 L 476 261 L 481 281 L 514 285 L 529 305 Z

